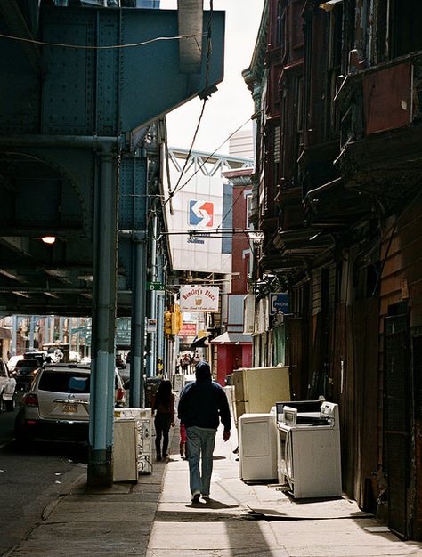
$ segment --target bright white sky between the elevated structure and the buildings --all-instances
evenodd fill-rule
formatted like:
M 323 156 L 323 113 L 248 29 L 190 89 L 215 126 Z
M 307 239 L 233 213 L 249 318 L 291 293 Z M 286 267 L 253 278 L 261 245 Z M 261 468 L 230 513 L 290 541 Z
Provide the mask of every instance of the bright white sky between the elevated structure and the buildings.
M 263 5 L 264 0 L 214 0 L 214 9 L 226 12 L 224 79 L 207 101 L 194 150 L 214 152 L 254 113 L 241 72 L 252 59 Z M 161 0 L 160 7 L 176 9 L 177 0 Z M 209 9 L 208 0 L 204 0 L 204 9 Z M 201 107 L 202 101 L 197 98 L 167 115 L 170 147 L 191 147 Z M 249 121 L 242 130 L 251 128 Z M 228 141 L 217 152 L 228 154 Z

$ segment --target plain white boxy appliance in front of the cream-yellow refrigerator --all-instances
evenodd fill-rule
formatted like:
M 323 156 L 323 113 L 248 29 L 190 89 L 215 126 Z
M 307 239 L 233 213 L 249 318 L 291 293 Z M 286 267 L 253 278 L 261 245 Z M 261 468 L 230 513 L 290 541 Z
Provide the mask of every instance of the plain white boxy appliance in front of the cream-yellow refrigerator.
M 275 413 L 239 417 L 239 477 L 277 480 L 277 419 Z

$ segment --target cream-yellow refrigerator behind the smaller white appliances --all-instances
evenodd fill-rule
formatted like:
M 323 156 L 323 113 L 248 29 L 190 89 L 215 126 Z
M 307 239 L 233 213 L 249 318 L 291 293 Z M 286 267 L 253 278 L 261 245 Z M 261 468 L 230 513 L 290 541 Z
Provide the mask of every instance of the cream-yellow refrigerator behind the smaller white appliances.
M 290 400 L 288 367 L 246 367 L 233 372 L 235 419 L 270 412 L 278 400 Z

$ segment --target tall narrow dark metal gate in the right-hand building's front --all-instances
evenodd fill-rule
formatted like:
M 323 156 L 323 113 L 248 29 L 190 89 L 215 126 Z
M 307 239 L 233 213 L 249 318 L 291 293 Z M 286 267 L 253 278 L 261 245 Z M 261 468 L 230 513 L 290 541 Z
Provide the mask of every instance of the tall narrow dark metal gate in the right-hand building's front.
M 385 318 L 384 469 L 388 526 L 409 537 L 411 371 L 407 314 Z

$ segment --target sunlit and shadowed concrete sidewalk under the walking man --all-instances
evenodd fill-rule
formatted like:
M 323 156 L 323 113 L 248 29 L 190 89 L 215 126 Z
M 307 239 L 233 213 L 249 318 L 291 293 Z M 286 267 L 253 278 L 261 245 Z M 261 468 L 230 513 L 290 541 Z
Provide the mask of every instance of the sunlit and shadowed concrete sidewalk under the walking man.
M 232 452 L 237 440 L 233 435 L 223 443 L 222 430 L 217 432 L 212 498 L 193 505 L 178 441 L 174 431 L 168 461 L 155 463 L 153 473 L 140 476 L 135 485 L 87 489 L 84 473 L 63 489 L 45 509 L 43 522 L 8 556 L 422 556 L 422 544 L 402 542 L 353 501 L 300 503 L 279 486 L 245 484 Z

